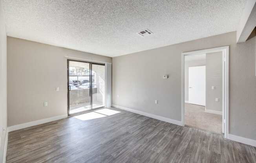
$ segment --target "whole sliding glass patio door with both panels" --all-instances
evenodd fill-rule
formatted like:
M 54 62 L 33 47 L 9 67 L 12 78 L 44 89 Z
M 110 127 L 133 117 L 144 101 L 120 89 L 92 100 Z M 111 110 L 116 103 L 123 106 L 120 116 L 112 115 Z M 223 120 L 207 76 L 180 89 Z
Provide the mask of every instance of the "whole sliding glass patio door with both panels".
M 105 106 L 105 65 L 68 60 L 68 114 Z

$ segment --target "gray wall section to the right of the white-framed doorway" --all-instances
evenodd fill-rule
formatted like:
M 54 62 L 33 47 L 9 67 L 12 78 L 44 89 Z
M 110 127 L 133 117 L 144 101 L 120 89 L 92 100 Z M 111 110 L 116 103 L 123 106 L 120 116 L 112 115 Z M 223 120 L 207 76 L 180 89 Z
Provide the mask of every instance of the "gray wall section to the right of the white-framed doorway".
M 256 140 L 256 37 L 231 46 L 229 66 L 230 133 Z

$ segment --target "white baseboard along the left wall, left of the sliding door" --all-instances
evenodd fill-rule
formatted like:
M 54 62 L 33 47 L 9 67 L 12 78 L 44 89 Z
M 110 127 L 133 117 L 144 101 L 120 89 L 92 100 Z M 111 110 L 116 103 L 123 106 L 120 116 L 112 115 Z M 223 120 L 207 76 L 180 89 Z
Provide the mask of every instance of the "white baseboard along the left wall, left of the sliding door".
M 40 124 L 43 124 L 43 123 L 47 123 L 47 122 L 51 122 L 51 121 L 56 121 L 56 120 L 60 120 L 60 119 L 67 118 L 67 117 L 68 117 L 68 115 L 64 114 L 64 115 L 61 115 L 61 116 L 55 116 L 55 117 L 46 118 L 46 119 L 42 119 L 42 120 L 22 123 L 22 124 L 19 124 L 19 125 L 14 125 L 14 126 L 7 127 L 7 132 L 11 132 L 11 131 L 15 131 L 15 130 L 20 130 L 20 129 L 24 129 L 24 128 L 27 128 L 27 127 L 31 127 L 31 126 L 35 126 L 35 125 L 40 125 Z

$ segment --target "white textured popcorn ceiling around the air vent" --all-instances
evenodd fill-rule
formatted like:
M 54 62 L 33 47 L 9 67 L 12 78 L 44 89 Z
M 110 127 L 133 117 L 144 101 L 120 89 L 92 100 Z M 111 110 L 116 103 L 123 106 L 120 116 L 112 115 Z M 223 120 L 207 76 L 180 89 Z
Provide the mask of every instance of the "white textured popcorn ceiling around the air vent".
M 235 31 L 245 2 L 4 0 L 4 10 L 8 36 L 119 56 Z

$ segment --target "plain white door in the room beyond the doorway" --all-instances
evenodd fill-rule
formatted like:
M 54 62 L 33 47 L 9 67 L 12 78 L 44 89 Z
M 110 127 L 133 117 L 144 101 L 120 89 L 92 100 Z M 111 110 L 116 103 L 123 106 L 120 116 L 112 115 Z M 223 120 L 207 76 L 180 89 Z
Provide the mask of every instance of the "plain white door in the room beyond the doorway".
M 188 67 L 188 101 L 205 106 L 205 66 Z

